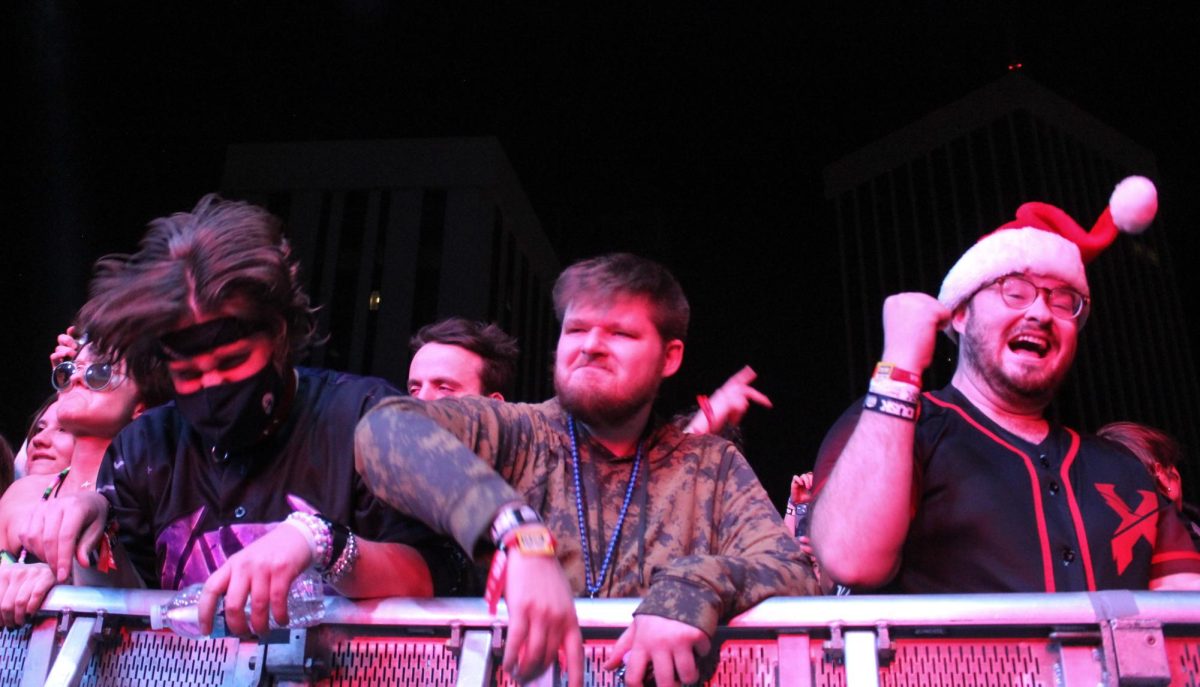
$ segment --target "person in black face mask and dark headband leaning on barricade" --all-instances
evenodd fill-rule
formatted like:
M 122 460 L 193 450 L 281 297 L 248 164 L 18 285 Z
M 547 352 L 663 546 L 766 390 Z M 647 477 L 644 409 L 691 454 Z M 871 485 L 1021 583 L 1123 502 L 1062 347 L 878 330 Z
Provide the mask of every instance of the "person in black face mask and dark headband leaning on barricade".
M 205 629 L 222 597 L 235 634 L 265 632 L 269 613 L 286 623 L 310 568 L 349 597 L 460 591 L 457 548 L 354 471 L 358 419 L 398 392 L 293 365 L 314 319 L 277 219 L 208 196 L 151 222 L 138 253 L 102 258 L 91 292 L 79 321 L 95 346 L 134 378 L 166 369 L 175 402 L 116 437 L 96 494 L 34 514 L 25 545 L 60 581 L 115 525 L 150 586 L 204 583 Z

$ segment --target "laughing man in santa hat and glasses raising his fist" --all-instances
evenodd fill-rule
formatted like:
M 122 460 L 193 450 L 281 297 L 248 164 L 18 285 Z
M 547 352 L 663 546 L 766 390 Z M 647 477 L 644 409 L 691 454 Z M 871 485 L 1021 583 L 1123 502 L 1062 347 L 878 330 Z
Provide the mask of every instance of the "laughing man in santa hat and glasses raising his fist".
M 1141 465 L 1045 418 L 1091 307 L 1084 263 L 1156 208 L 1136 177 L 1091 233 L 1026 203 L 964 253 L 936 300 L 887 299 L 884 362 L 817 460 L 824 573 L 912 593 L 1195 586 L 1200 555 Z M 938 329 L 959 364 L 950 386 L 920 394 Z

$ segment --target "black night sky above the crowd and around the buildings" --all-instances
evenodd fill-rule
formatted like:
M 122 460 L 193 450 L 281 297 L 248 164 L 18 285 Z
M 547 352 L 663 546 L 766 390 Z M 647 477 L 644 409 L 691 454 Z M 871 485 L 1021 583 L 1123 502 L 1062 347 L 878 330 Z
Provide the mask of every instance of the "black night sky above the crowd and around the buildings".
M 91 261 L 215 190 L 229 143 L 498 137 L 564 262 L 632 250 L 680 277 L 695 318 L 676 396 L 760 370 L 776 408 L 748 420 L 750 454 L 776 496 L 847 402 L 829 162 L 1019 61 L 1158 155 L 1152 231 L 1177 264 L 1200 244 L 1200 23 L 1182 5 L 266 5 L 8 8 L 0 432 L 49 392 Z

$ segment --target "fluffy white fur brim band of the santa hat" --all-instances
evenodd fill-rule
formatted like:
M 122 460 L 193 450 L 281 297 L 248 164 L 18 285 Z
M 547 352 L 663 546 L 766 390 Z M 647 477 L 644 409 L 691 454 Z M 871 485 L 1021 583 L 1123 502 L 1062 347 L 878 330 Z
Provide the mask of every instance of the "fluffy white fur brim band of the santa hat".
M 1052 232 L 1024 227 L 979 239 L 946 274 L 937 300 L 953 311 L 989 282 L 1021 273 L 1057 279 L 1091 295 L 1079 246 Z

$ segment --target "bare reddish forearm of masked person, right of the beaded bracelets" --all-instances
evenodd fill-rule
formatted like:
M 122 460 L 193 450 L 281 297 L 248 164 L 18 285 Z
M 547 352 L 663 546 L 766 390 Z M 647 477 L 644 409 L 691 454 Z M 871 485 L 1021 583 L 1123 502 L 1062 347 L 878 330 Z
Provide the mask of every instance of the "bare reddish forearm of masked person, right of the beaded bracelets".
M 348 598 L 430 597 L 433 580 L 420 551 L 407 544 L 355 539 L 359 561 L 334 589 Z

